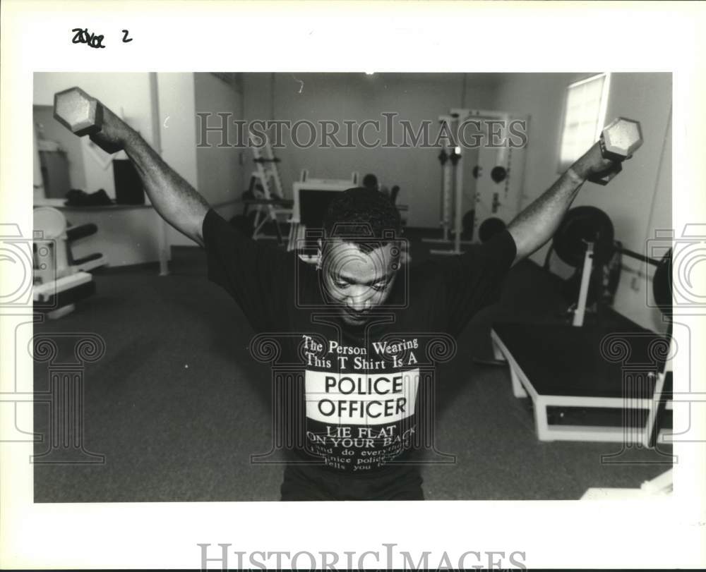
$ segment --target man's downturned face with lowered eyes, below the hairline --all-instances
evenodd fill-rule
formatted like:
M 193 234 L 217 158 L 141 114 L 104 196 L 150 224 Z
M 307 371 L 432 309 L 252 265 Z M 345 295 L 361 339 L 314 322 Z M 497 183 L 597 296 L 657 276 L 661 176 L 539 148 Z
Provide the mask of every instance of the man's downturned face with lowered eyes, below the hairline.
M 341 319 L 361 326 L 370 310 L 390 296 L 400 268 L 400 247 L 388 243 L 364 252 L 355 243 L 329 239 L 321 255 L 323 284 L 331 302 L 340 306 Z

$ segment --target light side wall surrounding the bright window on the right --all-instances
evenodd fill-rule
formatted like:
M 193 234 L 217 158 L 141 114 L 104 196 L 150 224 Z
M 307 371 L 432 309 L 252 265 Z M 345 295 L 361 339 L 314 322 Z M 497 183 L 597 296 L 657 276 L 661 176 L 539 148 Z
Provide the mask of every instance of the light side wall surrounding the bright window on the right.
M 496 106 L 529 113 L 525 202 L 539 196 L 556 180 L 561 114 L 566 86 L 590 73 L 513 73 L 498 85 Z M 593 205 L 613 221 L 616 239 L 626 248 L 645 252 L 645 241 L 655 229 L 671 228 L 671 75 L 669 73 L 614 73 L 611 76 L 606 121 L 626 116 L 640 121 L 645 143 L 609 185 L 586 183 L 574 206 Z M 666 136 L 666 138 L 665 138 Z M 652 206 L 654 204 L 654 207 Z M 542 263 L 546 247 L 532 256 Z M 623 257 L 626 269 L 615 308 L 643 327 L 664 329 L 651 299 L 647 279 L 633 272 L 640 263 Z M 642 264 L 644 270 L 644 264 Z M 633 289 L 633 285 L 636 289 Z

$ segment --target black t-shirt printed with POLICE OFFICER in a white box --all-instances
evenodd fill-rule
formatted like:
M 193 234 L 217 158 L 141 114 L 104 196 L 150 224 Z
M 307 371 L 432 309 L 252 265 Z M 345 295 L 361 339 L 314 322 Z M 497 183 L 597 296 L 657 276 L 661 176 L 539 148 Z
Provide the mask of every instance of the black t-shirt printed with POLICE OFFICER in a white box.
M 383 475 L 433 451 L 436 366 L 455 337 L 496 301 L 515 259 L 510 233 L 443 260 L 403 266 L 363 328 L 325 304 L 320 274 L 294 252 L 246 238 L 210 210 L 208 278 L 253 329 L 254 358 L 270 363 L 275 439 L 292 462 L 337 475 Z

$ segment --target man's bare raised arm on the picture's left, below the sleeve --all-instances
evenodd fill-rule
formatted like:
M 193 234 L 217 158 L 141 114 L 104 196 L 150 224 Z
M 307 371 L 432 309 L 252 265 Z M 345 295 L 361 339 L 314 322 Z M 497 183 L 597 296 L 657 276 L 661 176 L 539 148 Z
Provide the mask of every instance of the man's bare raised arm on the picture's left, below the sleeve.
M 90 138 L 97 145 L 107 143 L 125 150 L 160 217 L 177 231 L 204 245 L 202 228 L 210 208 L 208 202 L 167 165 L 136 130 L 103 107 L 102 128 Z

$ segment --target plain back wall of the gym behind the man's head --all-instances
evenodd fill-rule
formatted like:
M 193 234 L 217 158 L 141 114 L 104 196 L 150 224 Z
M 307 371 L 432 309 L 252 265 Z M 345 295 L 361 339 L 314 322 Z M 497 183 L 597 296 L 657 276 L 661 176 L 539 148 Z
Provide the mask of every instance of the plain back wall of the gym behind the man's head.
M 245 118 L 309 121 L 383 120 L 383 112 L 396 112 L 417 126 L 423 120 L 436 125 L 451 107 L 489 109 L 493 104 L 493 74 L 461 73 L 269 73 L 244 74 Z M 273 92 L 274 87 L 274 92 Z M 432 129 L 431 133 L 435 133 Z M 372 134 L 372 130 L 370 131 Z M 302 128 L 302 135 L 308 135 Z M 401 138 L 401 130 L 396 133 Z M 288 140 L 287 140 L 288 142 Z M 301 169 L 312 177 L 348 178 L 374 173 L 378 181 L 400 185 L 400 203 L 409 205 L 409 226 L 438 227 L 441 166 L 434 149 L 299 149 L 277 150 L 287 197 Z M 251 172 L 248 154 L 244 176 Z M 245 183 L 245 181 L 244 181 Z M 470 208 L 470 205 L 467 206 Z

